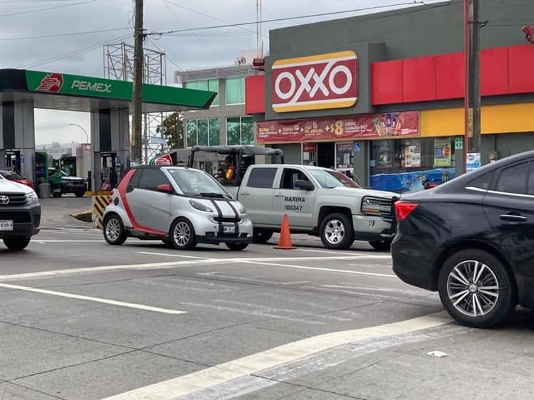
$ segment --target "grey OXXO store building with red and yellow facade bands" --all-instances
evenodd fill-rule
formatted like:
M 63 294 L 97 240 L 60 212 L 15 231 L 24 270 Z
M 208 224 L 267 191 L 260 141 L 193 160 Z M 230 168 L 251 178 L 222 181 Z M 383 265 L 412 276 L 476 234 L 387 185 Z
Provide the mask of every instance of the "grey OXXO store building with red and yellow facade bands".
M 502 20 L 502 4 L 485 6 L 481 15 Z M 353 169 L 361 184 L 399 193 L 463 173 L 461 7 L 410 10 L 271 31 L 265 75 L 246 78 L 256 143 L 281 147 L 288 163 Z M 458 34 L 428 33 L 441 25 Z M 534 46 L 524 42 L 519 29 L 483 31 L 483 140 L 468 169 L 534 149 L 534 78 L 524 69 Z

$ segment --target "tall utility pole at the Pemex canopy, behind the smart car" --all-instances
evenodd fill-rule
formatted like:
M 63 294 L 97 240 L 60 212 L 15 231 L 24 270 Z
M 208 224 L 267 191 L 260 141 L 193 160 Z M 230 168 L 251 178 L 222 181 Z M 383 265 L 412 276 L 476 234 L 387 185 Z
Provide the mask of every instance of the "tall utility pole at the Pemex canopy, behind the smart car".
M 134 43 L 134 76 L 133 76 L 133 132 L 132 159 L 142 163 L 142 83 L 143 83 L 143 0 L 135 0 L 135 43 Z

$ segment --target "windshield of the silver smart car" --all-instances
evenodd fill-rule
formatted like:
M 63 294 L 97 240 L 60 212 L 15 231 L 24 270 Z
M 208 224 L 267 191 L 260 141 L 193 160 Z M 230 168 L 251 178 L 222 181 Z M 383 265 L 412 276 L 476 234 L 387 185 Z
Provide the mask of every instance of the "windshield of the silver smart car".
M 169 169 L 168 171 L 186 196 L 231 198 L 223 186 L 204 171 L 198 169 Z

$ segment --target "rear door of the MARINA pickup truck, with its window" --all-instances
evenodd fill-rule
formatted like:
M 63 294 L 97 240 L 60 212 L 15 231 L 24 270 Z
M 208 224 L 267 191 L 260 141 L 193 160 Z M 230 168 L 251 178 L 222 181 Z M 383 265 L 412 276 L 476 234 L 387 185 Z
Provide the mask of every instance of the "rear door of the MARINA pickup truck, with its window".
M 273 225 L 273 191 L 277 167 L 253 167 L 241 184 L 238 200 L 254 226 Z

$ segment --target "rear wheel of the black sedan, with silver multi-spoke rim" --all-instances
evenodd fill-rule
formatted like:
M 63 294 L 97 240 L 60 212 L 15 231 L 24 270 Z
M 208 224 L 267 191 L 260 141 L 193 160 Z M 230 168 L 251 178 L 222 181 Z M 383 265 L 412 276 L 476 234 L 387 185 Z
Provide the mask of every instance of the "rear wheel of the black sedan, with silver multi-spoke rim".
M 438 278 L 439 298 L 449 314 L 469 327 L 491 327 L 513 312 L 515 283 L 497 258 L 480 250 L 451 256 Z

